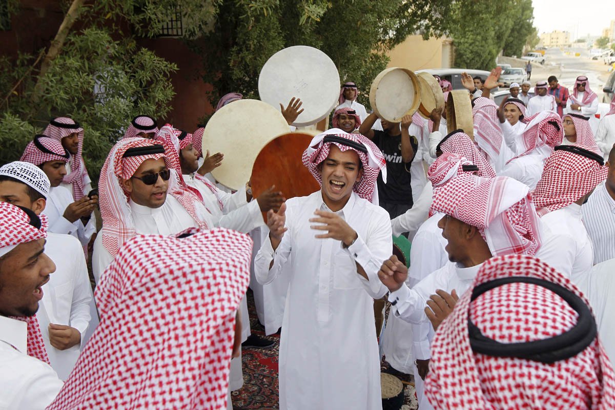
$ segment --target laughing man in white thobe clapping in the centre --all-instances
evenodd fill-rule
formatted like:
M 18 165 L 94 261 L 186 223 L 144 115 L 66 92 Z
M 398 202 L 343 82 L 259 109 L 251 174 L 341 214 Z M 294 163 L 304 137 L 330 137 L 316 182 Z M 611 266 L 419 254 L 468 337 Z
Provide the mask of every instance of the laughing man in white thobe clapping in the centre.
M 269 283 L 290 256 L 280 339 L 280 409 L 380 409 L 373 299 L 386 288 L 379 264 L 392 250 L 387 212 L 370 202 L 385 161 L 375 145 L 333 128 L 303 163 L 322 186 L 269 211 L 255 259 Z M 356 184 L 355 184 L 356 183 Z

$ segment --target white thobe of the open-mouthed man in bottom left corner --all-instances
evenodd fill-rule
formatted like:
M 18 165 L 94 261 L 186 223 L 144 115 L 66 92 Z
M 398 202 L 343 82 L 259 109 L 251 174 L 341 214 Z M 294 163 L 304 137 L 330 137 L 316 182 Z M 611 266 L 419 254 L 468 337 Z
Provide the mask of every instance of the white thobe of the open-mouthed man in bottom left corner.
M 44 361 L 28 356 L 28 325 L 0 316 L 0 409 L 44 410 L 63 386 Z

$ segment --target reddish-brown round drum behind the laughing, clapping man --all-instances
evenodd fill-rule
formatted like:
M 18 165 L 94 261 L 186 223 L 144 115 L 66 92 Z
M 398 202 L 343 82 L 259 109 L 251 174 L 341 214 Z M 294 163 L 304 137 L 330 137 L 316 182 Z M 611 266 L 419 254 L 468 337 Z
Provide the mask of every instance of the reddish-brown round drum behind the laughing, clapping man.
M 258 153 L 252 168 L 252 195 L 258 197 L 272 185 L 286 199 L 318 191 L 319 183 L 301 162 L 303 151 L 313 138 L 312 133 L 286 132 L 269 141 Z

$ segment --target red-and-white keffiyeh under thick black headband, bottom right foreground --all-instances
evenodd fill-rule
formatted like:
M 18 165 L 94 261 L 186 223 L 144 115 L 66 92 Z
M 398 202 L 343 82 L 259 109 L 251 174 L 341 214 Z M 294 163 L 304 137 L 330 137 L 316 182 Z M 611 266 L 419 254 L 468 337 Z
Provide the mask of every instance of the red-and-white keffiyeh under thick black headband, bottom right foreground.
M 587 306 L 574 283 L 539 259 L 507 255 L 488 259 L 472 288 L 507 277 L 531 277 L 563 286 Z M 613 367 L 598 337 L 574 357 L 552 364 L 472 352 L 468 320 L 502 344 L 558 336 L 578 313 L 554 292 L 530 283 L 498 286 L 471 301 L 459 298 L 432 342 L 425 392 L 436 410 L 608 410 L 615 408 Z

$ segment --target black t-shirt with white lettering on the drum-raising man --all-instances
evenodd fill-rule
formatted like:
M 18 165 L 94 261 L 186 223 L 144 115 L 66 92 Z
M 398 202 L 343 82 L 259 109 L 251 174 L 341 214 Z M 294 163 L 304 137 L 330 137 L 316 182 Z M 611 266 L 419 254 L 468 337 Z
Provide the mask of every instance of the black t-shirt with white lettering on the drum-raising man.
M 374 130 L 372 140 L 383 152 L 386 159 L 387 183 L 383 181 L 382 173 L 378 175 L 378 199 L 386 203 L 405 203 L 413 205 L 412 187 L 410 186 L 410 162 L 402 159 L 402 135 L 391 136 L 384 131 Z M 418 149 L 416 136 L 410 135 L 410 144 Z M 412 157 L 414 159 L 414 156 Z

